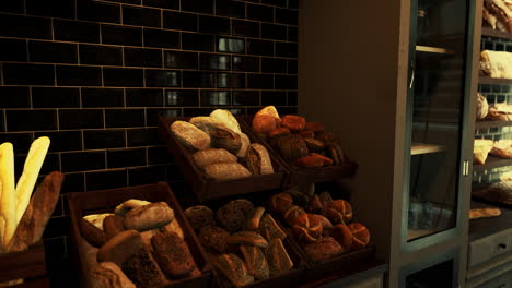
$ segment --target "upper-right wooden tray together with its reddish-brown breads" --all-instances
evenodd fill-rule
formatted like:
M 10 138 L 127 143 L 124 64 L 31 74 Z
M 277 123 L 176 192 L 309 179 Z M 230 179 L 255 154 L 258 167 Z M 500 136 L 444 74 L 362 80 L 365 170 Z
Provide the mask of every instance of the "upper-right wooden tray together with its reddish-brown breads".
M 351 177 L 357 170 L 335 134 L 322 123 L 294 115 L 280 117 L 274 106 L 241 119 L 290 171 L 286 187 L 335 181 Z

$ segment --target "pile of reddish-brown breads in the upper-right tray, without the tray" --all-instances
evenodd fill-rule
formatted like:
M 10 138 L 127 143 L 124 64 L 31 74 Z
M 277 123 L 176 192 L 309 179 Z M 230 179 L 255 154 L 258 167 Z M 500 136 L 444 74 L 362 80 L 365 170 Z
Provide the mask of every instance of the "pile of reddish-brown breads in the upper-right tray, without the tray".
M 276 107 L 267 106 L 254 116 L 252 125 L 289 164 L 311 168 L 348 161 L 335 135 L 322 123 L 293 115 L 280 118 Z

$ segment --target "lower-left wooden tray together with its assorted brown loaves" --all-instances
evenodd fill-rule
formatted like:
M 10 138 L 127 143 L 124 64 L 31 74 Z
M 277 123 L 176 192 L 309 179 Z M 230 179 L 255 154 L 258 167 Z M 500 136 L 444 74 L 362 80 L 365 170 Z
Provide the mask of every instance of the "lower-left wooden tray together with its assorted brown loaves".
M 209 287 L 210 267 L 165 182 L 69 196 L 83 287 Z

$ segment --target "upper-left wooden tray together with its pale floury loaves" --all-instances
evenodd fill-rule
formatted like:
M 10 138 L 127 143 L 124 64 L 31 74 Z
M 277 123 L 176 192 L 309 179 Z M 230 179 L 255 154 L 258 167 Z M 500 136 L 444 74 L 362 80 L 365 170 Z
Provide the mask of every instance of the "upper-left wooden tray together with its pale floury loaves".
M 199 201 L 280 188 L 287 170 L 228 110 L 159 119 L 159 133 Z

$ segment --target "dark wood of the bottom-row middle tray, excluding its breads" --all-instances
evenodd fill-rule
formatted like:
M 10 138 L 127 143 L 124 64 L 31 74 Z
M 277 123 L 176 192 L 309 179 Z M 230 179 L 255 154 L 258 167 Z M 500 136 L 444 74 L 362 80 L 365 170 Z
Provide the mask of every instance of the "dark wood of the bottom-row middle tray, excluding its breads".
M 271 193 L 275 193 L 275 192 L 265 191 L 265 192 L 257 193 L 257 194 L 233 196 L 233 197 L 228 197 L 228 199 L 222 199 L 222 200 L 211 200 L 211 201 L 208 201 L 207 203 L 201 203 L 201 205 L 206 205 L 210 207 L 213 211 L 213 213 L 216 213 L 216 211 L 219 207 L 221 207 L 222 205 L 226 204 L 228 202 L 232 200 L 246 199 L 251 201 L 255 207 L 258 207 L 258 206 L 265 207 L 266 200 Z M 198 203 L 189 203 L 189 204 L 198 204 Z M 189 206 L 193 206 L 193 205 L 189 205 Z M 183 207 L 187 208 L 188 206 L 184 205 Z M 278 220 L 276 219 L 276 221 Z M 282 226 L 281 228 L 283 229 L 283 231 L 286 231 L 286 229 Z M 293 268 L 287 273 L 277 275 L 275 277 L 271 277 L 265 280 L 255 280 L 251 285 L 243 286 L 243 288 L 299 287 L 303 283 L 304 280 L 303 277 L 305 276 L 306 269 L 310 268 L 307 261 L 303 257 L 302 253 L 300 252 L 300 249 L 296 247 L 296 242 L 294 242 L 290 236 L 288 236 L 284 239 L 284 241 L 282 241 L 282 243 L 284 248 L 287 249 L 287 252 L 290 259 L 293 261 Z M 232 253 L 233 251 L 229 251 L 229 252 Z M 219 255 L 217 253 L 210 253 L 210 251 L 207 251 L 207 254 L 209 255 L 209 257 Z M 236 254 L 238 255 L 238 257 L 243 260 L 241 253 L 236 253 Z M 210 261 L 210 266 L 212 267 L 212 273 L 214 275 L 214 281 L 213 281 L 214 287 L 234 288 L 234 286 L 231 285 L 231 283 L 217 271 L 213 264 L 211 264 L 212 261 L 210 259 L 208 260 Z

